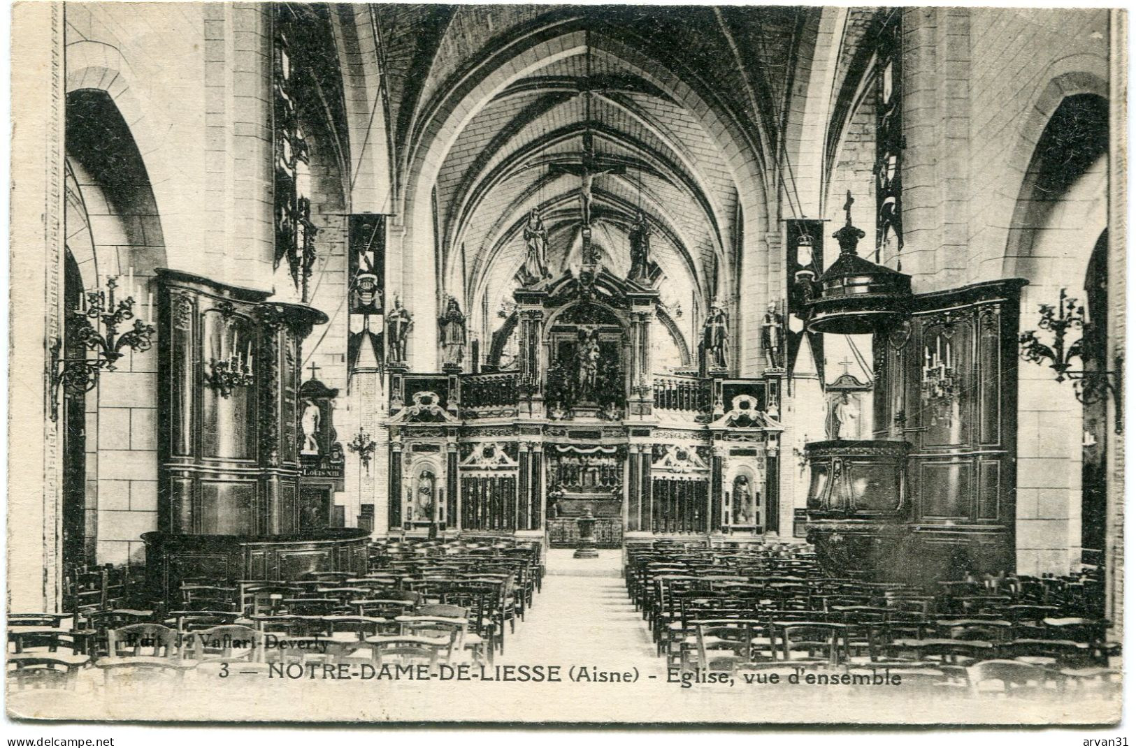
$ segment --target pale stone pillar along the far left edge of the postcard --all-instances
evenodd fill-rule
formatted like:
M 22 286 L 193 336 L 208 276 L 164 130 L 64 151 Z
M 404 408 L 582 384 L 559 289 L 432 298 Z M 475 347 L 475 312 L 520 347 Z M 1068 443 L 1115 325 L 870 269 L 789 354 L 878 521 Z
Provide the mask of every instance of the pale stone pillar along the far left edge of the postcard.
M 58 611 L 62 596 L 64 419 L 50 418 L 44 377 L 49 346 L 62 337 L 64 292 L 64 3 L 12 9 L 14 69 L 40 70 L 11 82 L 11 167 L 20 190 L 11 194 L 12 252 L 9 344 L 23 365 L 9 369 L 9 465 L 25 477 L 8 487 L 8 610 Z M 41 353 L 36 353 L 36 352 Z M 15 471 L 14 471 L 15 477 Z M 41 482 L 42 477 L 42 482 Z M 10 526 L 16 527 L 16 526 Z

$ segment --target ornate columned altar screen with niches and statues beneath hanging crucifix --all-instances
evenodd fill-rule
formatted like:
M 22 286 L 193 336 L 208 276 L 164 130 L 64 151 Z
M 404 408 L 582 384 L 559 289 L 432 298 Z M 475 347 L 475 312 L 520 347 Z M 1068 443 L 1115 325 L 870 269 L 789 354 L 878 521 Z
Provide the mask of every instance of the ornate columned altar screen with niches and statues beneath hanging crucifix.
M 546 531 L 571 546 L 586 510 L 601 547 L 778 531 L 780 375 L 727 376 L 720 310 L 698 361 L 654 375 L 651 328 L 674 323 L 644 263 L 616 277 L 590 241 L 585 228 L 584 263 L 559 278 L 534 260 L 481 371 L 387 365 L 390 531 Z

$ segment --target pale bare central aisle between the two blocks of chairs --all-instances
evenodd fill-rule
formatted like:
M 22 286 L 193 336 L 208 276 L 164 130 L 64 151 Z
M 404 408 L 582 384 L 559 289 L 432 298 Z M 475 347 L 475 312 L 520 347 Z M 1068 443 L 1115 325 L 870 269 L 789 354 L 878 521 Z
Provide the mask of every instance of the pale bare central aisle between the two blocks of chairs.
M 544 585 L 506 638 L 501 664 L 586 663 L 625 670 L 654 669 L 658 661 L 646 623 L 627 596 L 619 551 L 599 558 L 573 558 L 570 549 L 549 551 Z

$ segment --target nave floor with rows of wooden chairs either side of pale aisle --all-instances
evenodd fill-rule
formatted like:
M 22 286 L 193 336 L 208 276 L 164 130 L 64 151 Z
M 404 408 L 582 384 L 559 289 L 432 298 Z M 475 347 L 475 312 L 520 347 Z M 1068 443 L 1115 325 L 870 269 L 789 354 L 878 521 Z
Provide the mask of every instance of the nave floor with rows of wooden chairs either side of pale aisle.
M 222 687 L 234 709 L 294 718 L 260 701 L 289 687 L 366 718 L 429 720 L 440 713 L 416 698 L 442 689 L 459 699 L 446 718 L 512 721 L 537 688 L 567 699 L 563 721 L 627 718 L 630 695 L 637 721 L 665 723 L 705 709 L 777 721 L 783 699 L 833 694 L 838 708 L 868 692 L 896 708 L 928 692 L 941 706 L 1075 696 L 1092 708 L 1120 687 L 1119 645 L 1088 617 L 1093 574 L 918 588 L 826 575 L 800 543 L 655 541 L 598 558 L 484 538 L 369 551 L 360 578 L 183 581 L 174 611 L 132 607 L 143 600 L 126 586 L 74 616 L 9 614 L 10 694 L 45 716 L 95 692 L 114 705 L 184 691 L 177 709 L 193 718 L 195 698 Z M 370 687 L 378 700 L 359 700 Z

